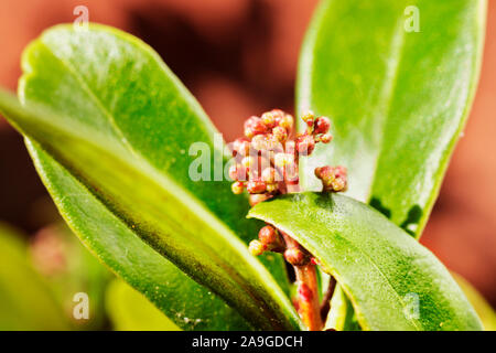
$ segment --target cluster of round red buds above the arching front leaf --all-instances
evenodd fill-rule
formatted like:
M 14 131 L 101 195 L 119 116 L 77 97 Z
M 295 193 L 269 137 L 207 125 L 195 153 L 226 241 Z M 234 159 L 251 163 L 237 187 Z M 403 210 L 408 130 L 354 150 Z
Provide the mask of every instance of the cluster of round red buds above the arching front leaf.
M 235 181 L 231 186 L 235 194 L 246 189 L 250 204 L 255 205 L 287 193 L 290 185 L 298 185 L 299 157 L 310 156 L 315 143 L 332 140 L 328 118 L 309 111 L 302 119 L 306 130 L 294 139 L 294 119 L 282 110 L 273 109 L 245 121 L 245 136 L 233 143 L 236 162 L 229 169 L 229 176 Z M 342 167 L 323 167 L 315 174 L 322 180 L 324 191 L 346 189 L 346 170 Z

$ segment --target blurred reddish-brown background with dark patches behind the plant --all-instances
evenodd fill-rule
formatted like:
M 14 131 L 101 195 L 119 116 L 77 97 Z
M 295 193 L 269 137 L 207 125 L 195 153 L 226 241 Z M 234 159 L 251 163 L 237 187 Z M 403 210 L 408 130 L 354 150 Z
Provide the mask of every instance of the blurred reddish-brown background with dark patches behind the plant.
M 152 45 L 227 140 L 251 114 L 293 108 L 298 53 L 317 0 L 1 0 L 0 85 L 17 88 L 23 47 L 45 28 L 89 20 Z M 481 83 L 422 243 L 496 306 L 496 1 Z M 0 221 L 33 233 L 56 220 L 21 137 L 0 119 Z

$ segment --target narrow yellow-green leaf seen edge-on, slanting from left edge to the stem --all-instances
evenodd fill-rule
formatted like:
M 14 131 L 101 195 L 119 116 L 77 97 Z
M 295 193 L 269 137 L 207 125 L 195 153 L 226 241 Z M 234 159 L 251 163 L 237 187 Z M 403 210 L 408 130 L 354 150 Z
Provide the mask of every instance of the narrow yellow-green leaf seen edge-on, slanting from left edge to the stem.
M 168 173 L 115 143 L 99 128 L 47 113 L 40 105 L 22 107 L 0 92 L 0 109 L 129 229 L 256 328 L 301 328 L 288 297 L 246 245 Z

